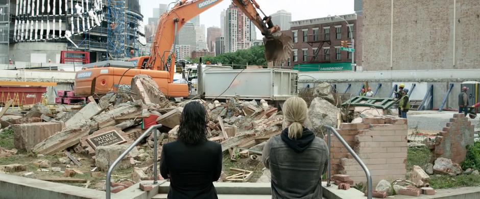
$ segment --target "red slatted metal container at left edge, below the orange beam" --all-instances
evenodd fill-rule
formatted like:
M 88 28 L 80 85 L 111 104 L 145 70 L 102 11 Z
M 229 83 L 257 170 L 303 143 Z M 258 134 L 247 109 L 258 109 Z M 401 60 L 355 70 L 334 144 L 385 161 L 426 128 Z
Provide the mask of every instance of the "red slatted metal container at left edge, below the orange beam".
M 0 87 L 0 101 L 5 104 L 8 100 L 14 100 L 13 105 L 29 105 L 42 102 L 42 94 L 46 93 L 46 87 Z

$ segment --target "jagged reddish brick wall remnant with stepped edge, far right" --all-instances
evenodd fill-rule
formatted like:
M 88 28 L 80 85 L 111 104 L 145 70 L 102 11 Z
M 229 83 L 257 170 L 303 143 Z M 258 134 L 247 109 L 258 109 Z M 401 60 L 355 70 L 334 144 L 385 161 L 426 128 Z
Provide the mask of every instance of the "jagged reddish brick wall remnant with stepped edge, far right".
M 454 114 L 435 140 L 435 158 L 448 158 L 460 164 L 467 155 L 466 146 L 473 145 L 473 128 L 463 113 Z

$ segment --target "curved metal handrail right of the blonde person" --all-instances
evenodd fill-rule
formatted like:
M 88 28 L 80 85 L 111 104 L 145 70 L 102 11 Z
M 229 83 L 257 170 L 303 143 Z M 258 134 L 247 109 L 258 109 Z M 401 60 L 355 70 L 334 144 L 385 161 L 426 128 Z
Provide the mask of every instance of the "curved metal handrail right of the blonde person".
M 365 165 L 365 163 L 362 161 L 362 159 L 360 159 L 360 157 L 358 157 L 358 155 L 353 151 L 353 149 L 348 145 L 347 141 L 345 141 L 345 139 L 342 138 L 342 136 L 339 134 L 339 132 L 337 132 L 337 130 L 335 130 L 333 127 L 331 126 L 328 126 L 328 125 L 323 125 L 323 127 L 327 128 L 330 130 L 331 133 L 333 133 L 335 135 L 335 137 L 337 137 L 337 139 L 340 140 L 340 142 L 342 143 L 342 145 L 347 149 L 347 151 L 352 154 L 353 158 L 355 158 L 355 160 L 358 162 L 358 164 L 360 164 L 360 166 L 362 166 L 362 168 L 364 169 L 364 172 L 365 172 L 365 175 L 367 176 L 367 198 L 368 199 L 372 199 L 372 176 L 370 175 L 370 170 L 367 168 L 367 165 Z M 328 168 L 327 168 L 327 187 L 330 187 L 331 184 L 330 184 L 330 181 L 331 181 L 331 165 L 330 165 L 330 156 L 331 156 L 331 150 L 330 150 L 330 142 L 331 142 L 331 137 L 330 137 L 330 134 L 331 133 L 328 133 L 328 142 L 327 142 L 327 145 L 328 145 Z

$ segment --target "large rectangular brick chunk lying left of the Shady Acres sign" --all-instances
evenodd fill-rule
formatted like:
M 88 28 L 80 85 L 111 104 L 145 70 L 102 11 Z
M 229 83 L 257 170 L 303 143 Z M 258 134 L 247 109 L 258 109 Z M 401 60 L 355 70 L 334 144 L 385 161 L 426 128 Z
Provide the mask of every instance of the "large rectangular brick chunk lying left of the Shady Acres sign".
M 38 122 L 13 125 L 14 145 L 16 149 L 31 152 L 32 148 L 46 138 L 60 132 L 62 123 Z

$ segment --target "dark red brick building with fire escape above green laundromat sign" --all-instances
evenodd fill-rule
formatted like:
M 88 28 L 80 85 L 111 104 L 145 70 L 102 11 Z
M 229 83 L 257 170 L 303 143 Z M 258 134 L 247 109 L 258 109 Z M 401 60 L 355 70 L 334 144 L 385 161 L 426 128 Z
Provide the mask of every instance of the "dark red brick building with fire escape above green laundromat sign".
M 300 71 L 352 70 L 352 54 L 340 47 L 341 41 L 351 41 L 349 26 L 355 39 L 356 15 L 340 17 L 348 25 L 334 16 L 290 22 L 290 30 L 283 33 L 292 37 L 294 47 L 286 66 Z

